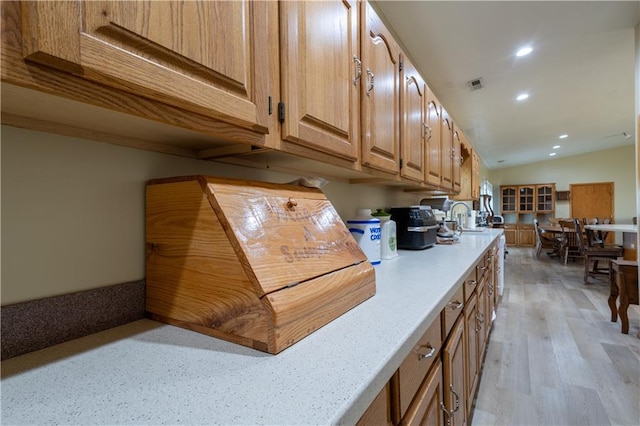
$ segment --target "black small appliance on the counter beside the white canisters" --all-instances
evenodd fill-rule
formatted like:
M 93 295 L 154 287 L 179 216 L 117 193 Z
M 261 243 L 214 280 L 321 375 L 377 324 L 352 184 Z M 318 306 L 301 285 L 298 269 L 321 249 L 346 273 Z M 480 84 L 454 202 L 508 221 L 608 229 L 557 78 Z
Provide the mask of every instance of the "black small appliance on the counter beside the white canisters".
M 436 244 L 438 224 L 430 206 L 392 207 L 390 212 L 397 224 L 398 248 L 422 250 Z

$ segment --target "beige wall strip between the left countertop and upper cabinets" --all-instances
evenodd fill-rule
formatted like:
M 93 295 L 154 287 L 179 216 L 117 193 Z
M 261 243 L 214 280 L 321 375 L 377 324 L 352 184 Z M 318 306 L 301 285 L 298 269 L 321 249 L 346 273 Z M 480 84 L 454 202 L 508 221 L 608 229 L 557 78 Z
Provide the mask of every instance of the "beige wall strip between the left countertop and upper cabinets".
M 2 305 L 144 278 L 149 179 L 207 174 L 284 183 L 298 177 L 1 129 Z M 358 207 L 410 205 L 421 198 L 336 182 L 323 191 L 344 220 Z

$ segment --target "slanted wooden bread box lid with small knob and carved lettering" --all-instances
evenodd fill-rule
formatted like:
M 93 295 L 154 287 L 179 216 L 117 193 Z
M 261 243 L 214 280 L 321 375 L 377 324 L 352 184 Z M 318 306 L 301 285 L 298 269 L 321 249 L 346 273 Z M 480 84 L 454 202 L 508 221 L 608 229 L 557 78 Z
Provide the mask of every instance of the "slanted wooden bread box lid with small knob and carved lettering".
M 205 179 L 213 209 L 264 293 L 367 260 L 321 190 Z

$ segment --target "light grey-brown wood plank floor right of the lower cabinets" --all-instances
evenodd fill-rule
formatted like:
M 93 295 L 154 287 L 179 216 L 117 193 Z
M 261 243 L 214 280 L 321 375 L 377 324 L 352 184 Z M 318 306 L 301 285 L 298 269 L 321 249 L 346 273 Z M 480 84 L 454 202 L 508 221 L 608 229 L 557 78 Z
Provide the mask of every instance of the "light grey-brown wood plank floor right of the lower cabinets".
M 509 247 L 472 425 L 640 425 L 640 309 L 611 322 L 608 281 Z

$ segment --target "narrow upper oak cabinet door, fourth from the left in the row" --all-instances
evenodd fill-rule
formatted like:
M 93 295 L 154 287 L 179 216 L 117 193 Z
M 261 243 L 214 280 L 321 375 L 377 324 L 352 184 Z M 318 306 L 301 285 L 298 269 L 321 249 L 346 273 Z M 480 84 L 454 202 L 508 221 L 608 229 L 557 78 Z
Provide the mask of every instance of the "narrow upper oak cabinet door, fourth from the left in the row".
M 424 182 L 425 138 L 424 126 L 425 84 L 408 59 L 402 60 L 402 133 L 400 175 L 416 182 Z

